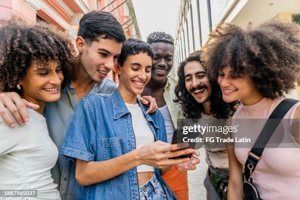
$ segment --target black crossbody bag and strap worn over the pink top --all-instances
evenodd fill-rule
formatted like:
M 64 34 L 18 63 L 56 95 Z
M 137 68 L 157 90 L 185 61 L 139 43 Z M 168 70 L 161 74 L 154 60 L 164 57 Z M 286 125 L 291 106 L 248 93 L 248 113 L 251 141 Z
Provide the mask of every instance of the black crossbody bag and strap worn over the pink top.
M 261 200 L 259 196 L 259 192 L 252 182 L 252 173 L 257 163 L 261 160 L 262 152 L 265 149 L 271 136 L 273 135 L 275 129 L 279 125 L 281 119 L 297 102 L 298 100 L 285 99 L 281 101 L 279 105 L 277 105 L 275 110 L 270 115 L 269 119 L 280 119 L 280 120 L 277 120 L 275 122 L 268 120 L 264 125 L 262 131 L 260 132 L 257 140 L 255 141 L 253 148 L 249 151 L 248 158 L 244 166 L 245 181 L 243 184 L 243 190 L 244 190 L 244 195 L 246 200 Z M 262 148 L 255 148 L 258 147 L 258 143 L 262 146 Z

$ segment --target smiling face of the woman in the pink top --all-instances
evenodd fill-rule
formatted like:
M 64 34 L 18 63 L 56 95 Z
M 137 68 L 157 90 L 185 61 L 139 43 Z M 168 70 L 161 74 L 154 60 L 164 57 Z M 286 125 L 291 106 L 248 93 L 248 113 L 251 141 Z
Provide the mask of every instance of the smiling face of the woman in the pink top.
M 229 66 L 219 71 L 218 83 L 225 102 L 242 100 L 243 104 L 251 104 L 262 98 L 249 75 L 235 75 Z

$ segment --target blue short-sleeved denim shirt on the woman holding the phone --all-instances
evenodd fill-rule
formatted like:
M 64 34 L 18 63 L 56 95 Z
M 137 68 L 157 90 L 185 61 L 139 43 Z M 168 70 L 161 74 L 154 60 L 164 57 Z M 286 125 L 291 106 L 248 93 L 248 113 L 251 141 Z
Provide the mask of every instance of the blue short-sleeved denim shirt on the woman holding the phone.
M 147 107 L 139 100 L 155 140 L 167 141 L 162 114 L 157 110 L 147 114 Z M 109 160 L 135 150 L 135 137 L 131 114 L 121 94 L 115 89 L 111 95 L 91 94 L 81 99 L 67 132 L 60 153 L 85 161 Z M 100 172 L 105 173 L 105 172 Z M 160 175 L 169 200 L 176 199 Z M 86 200 L 139 200 L 136 167 L 98 184 L 83 187 L 82 199 Z

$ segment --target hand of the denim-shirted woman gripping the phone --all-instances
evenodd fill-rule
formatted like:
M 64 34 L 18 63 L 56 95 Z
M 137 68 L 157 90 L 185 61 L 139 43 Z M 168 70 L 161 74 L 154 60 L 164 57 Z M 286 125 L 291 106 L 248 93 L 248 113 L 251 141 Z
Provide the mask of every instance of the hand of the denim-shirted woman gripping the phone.
M 148 165 L 158 169 L 162 169 L 167 166 L 174 166 L 180 163 L 188 162 L 190 158 L 181 159 L 168 159 L 177 157 L 184 154 L 193 153 L 193 149 L 180 150 L 177 144 L 169 144 L 162 141 L 156 141 L 152 144 L 145 145 L 139 149 L 136 149 L 137 166 Z

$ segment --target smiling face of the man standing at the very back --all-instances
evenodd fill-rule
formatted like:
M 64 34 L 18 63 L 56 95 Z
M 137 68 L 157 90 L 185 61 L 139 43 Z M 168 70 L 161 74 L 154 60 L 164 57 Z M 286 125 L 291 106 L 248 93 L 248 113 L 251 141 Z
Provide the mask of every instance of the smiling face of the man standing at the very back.
M 155 82 L 165 82 L 173 67 L 174 46 L 165 42 L 155 42 L 151 47 L 155 53 L 151 78 Z

